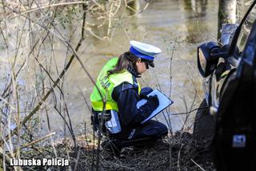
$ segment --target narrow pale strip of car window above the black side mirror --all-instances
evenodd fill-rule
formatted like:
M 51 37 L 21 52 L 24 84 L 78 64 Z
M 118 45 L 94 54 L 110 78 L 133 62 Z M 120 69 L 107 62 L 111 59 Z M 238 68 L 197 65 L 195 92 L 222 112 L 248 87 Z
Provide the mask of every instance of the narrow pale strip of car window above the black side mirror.
M 249 37 L 250 30 L 254 24 L 254 21 L 256 19 L 256 6 L 250 11 L 250 14 L 247 16 L 245 22 L 242 24 L 241 32 L 238 36 L 238 54 L 242 53 L 242 50 L 244 49 L 246 45 L 247 38 Z M 237 56 L 239 58 L 239 55 Z

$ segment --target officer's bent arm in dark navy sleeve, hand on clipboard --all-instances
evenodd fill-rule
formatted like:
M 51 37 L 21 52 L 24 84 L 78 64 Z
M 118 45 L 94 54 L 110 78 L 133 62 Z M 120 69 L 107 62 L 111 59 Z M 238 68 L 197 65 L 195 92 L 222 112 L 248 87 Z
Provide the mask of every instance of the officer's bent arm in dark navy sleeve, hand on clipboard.
M 114 88 L 113 99 L 118 103 L 121 121 L 124 125 L 139 125 L 156 108 L 152 101 L 148 101 L 137 109 L 139 101 L 138 89 L 129 83 L 122 83 Z

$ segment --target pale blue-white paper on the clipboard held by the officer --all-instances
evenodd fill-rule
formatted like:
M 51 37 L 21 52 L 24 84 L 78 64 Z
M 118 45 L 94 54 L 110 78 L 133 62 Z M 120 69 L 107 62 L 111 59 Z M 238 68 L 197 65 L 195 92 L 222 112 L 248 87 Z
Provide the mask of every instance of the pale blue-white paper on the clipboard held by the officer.
M 158 96 L 159 105 L 157 109 L 154 109 L 154 111 L 150 114 L 149 117 L 146 117 L 146 119 L 142 121 L 142 124 L 145 123 L 146 121 L 149 121 L 152 117 L 162 112 L 163 109 L 166 109 L 166 107 L 174 103 L 174 101 L 170 100 L 170 98 L 166 97 L 166 95 L 161 91 L 159 91 L 158 89 L 154 89 L 151 93 L 147 95 L 147 97 L 154 96 L 154 95 Z M 146 99 L 142 99 L 138 101 L 137 108 L 139 109 L 145 103 L 146 103 Z

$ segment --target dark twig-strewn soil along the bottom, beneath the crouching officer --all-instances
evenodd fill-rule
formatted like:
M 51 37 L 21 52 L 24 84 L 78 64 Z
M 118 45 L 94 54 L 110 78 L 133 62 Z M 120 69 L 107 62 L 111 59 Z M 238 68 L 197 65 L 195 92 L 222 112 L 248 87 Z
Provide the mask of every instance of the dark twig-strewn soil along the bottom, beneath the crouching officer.
M 81 143 L 80 143 L 81 144 Z M 66 144 L 56 147 L 58 157 L 69 158 L 69 167 L 33 167 L 41 170 L 214 170 L 210 157 L 209 142 L 194 141 L 190 133 L 175 133 L 158 141 L 150 148 L 134 151 L 132 148 L 122 150 L 122 157 L 99 150 L 97 166 L 97 145 L 79 145 L 77 150 Z M 84 147 L 82 147 L 84 146 Z M 68 155 L 67 155 L 68 154 Z M 42 153 L 41 157 L 50 157 L 53 153 Z M 67 157 L 69 156 L 69 157 Z M 38 156 L 40 158 L 40 155 Z M 26 168 L 24 168 L 26 169 Z

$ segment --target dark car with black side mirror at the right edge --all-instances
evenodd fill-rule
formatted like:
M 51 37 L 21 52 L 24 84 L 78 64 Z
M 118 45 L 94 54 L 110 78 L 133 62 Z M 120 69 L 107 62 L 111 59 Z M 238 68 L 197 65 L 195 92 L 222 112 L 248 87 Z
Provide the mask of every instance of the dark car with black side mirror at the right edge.
M 196 141 L 210 141 L 218 170 L 256 170 L 256 1 L 221 42 L 198 46 L 205 99 L 194 122 Z

